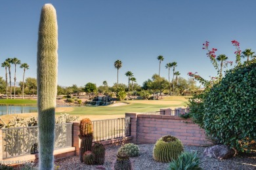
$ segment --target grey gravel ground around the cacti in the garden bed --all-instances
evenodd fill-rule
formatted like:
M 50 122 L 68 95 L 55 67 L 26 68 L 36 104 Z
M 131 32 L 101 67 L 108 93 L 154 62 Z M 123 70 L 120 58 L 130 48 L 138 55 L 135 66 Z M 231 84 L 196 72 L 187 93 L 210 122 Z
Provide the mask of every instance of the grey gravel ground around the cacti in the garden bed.
M 59 169 L 112 169 L 114 161 L 116 160 L 116 153 L 119 146 L 110 146 L 106 148 L 105 163 L 102 166 L 99 165 L 85 165 L 80 163 L 79 156 L 72 156 L 65 158 L 55 163 L 59 166 Z M 167 169 L 169 163 L 159 163 L 153 160 L 152 150 L 154 144 L 139 144 L 140 156 L 130 158 L 133 163 L 133 169 Z M 200 167 L 203 169 L 220 169 L 220 170 L 243 170 L 243 169 L 256 169 L 256 154 L 247 154 L 245 156 L 236 156 L 228 160 L 217 160 L 215 158 L 208 158 L 203 156 L 204 147 L 200 146 L 184 146 L 186 151 L 197 151 L 200 157 Z M 102 168 L 104 167 L 104 168 Z

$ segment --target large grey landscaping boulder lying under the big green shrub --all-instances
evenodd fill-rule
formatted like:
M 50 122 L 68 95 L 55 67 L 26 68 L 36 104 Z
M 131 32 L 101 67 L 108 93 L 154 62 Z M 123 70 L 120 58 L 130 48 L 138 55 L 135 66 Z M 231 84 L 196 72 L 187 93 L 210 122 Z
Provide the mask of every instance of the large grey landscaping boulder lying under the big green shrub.
M 228 158 L 232 158 L 234 154 L 236 154 L 236 151 L 224 144 L 217 144 L 215 146 L 205 148 L 203 152 L 204 156 L 209 156 L 210 158 L 217 158 L 219 160 L 226 160 Z

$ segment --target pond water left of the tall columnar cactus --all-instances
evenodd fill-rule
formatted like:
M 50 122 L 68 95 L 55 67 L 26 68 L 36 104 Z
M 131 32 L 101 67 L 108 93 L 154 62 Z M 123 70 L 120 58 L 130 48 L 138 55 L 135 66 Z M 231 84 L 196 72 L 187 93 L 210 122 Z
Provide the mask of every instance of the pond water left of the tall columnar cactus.
M 20 114 L 37 112 L 37 105 L 0 105 L 0 116 L 5 114 Z

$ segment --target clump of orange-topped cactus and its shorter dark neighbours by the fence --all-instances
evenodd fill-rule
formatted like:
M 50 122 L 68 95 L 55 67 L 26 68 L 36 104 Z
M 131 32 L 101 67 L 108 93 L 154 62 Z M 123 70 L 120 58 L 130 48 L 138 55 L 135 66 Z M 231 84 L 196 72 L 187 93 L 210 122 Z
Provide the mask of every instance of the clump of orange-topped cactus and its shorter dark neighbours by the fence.
M 93 124 L 89 118 L 84 118 L 79 124 L 80 161 L 87 165 L 103 165 L 105 147 L 101 143 L 93 144 Z

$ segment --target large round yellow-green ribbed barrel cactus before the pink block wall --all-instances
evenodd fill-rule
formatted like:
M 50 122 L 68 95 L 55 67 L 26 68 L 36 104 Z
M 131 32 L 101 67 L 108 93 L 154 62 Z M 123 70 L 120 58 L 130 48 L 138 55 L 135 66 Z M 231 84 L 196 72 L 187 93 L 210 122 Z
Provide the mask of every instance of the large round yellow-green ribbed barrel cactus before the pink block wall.
M 160 162 L 170 162 L 177 160 L 183 151 L 183 144 L 179 139 L 171 135 L 161 137 L 156 141 L 153 149 L 154 160 Z

